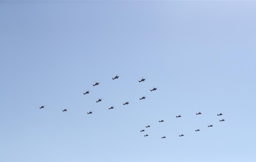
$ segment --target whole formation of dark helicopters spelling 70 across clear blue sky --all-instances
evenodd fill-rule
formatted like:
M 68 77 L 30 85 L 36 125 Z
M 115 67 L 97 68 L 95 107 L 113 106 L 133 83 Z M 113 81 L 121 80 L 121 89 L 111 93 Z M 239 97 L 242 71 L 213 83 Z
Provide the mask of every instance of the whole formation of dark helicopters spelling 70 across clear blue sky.
M 112 78 L 112 80 L 115 80 L 115 79 L 118 79 L 120 76 L 118 76 L 118 75 L 116 75 L 114 78 Z M 147 78 L 143 78 L 142 77 L 142 79 L 141 80 L 139 80 L 139 83 L 140 82 L 144 82 L 145 80 L 146 80 Z M 96 82 L 95 81 L 95 84 L 92 84 L 93 86 L 98 86 L 100 84 L 100 82 Z M 153 86 L 153 88 L 152 89 L 150 89 L 150 91 L 152 92 L 152 91 L 156 91 L 157 90 L 157 88 L 158 87 L 154 87 Z M 86 95 L 86 94 L 89 94 L 90 93 L 90 91 L 88 90 L 88 91 L 86 91 L 85 93 L 83 93 L 83 95 Z M 146 96 L 141 96 L 141 98 L 139 98 L 139 100 L 142 100 L 142 99 L 146 99 Z M 102 101 L 102 99 L 100 99 L 100 98 L 98 98 L 98 100 L 96 101 L 96 103 L 98 103 L 98 102 L 101 102 Z M 123 103 L 123 105 L 128 105 L 130 102 L 129 101 L 127 101 L 127 102 L 125 102 L 125 103 Z M 42 108 L 44 108 L 45 107 L 45 105 L 43 105 L 43 106 L 40 106 L 39 108 L 40 109 L 42 109 Z M 114 106 L 111 106 L 110 108 L 108 108 L 109 110 L 111 110 L 111 109 L 114 109 Z M 64 110 L 62 110 L 62 112 L 67 112 L 67 110 L 68 109 L 64 109 Z M 90 111 L 90 112 L 87 112 L 87 114 L 92 114 L 92 111 Z M 202 113 L 199 111 L 198 113 L 196 113 L 196 115 L 201 115 Z M 219 114 L 217 114 L 217 116 L 222 116 L 223 114 L 222 113 L 219 113 Z M 178 116 L 176 116 L 176 118 L 181 118 L 181 115 L 178 115 Z M 222 122 L 222 121 L 225 121 L 225 119 L 222 119 L 222 120 L 219 120 L 220 122 Z M 159 123 L 162 123 L 162 122 L 164 122 L 164 120 L 162 119 L 162 120 L 158 120 L 158 122 Z M 146 128 L 150 128 L 151 127 L 151 125 L 147 125 L 146 126 Z M 213 127 L 213 125 L 208 125 L 208 127 Z M 144 129 L 142 129 L 142 130 L 140 130 L 140 132 L 144 132 L 145 130 Z M 195 129 L 195 131 L 200 131 L 200 129 Z M 144 135 L 144 137 L 148 137 L 149 135 L 148 134 L 146 134 L 146 135 Z M 181 135 L 179 135 L 179 137 L 183 137 L 184 135 L 183 134 L 181 134 Z M 166 138 L 166 136 L 163 136 L 163 137 L 161 137 L 162 139 L 163 138 Z

